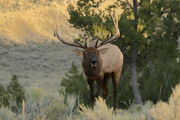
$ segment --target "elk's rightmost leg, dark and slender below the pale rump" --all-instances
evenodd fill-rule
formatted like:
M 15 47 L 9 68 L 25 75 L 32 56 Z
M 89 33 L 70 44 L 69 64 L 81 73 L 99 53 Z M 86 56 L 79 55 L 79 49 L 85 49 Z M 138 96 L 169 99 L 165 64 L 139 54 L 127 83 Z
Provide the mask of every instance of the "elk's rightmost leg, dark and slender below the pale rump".
M 119 78 L 120 78 L 119 72 L 112 73 L 114 110 L 116 110 L 116 96 L 117 96 L 117 88 L 119 85 Z

